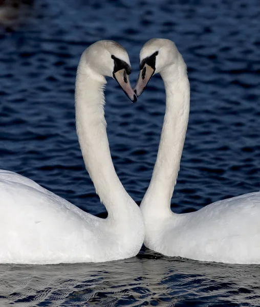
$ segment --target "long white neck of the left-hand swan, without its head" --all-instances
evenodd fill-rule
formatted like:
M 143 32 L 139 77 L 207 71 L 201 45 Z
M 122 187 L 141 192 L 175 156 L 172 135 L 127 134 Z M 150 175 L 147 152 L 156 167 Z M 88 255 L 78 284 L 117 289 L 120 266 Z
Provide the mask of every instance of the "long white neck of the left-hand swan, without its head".
M 106 80 L 96 75 L 82 56 L 75 89 L 76 128 L 86 169 L 109 217 L 122 218 L 121 208 L 133 202 L 123 188 L 113 165 L 104 118 Z

